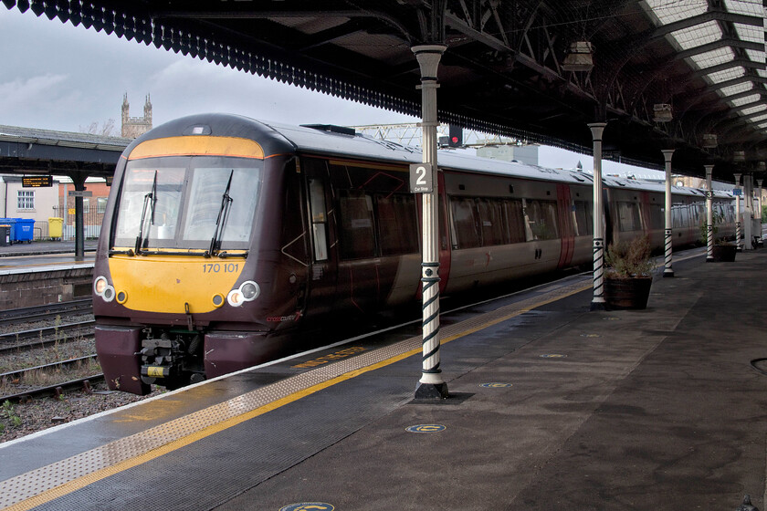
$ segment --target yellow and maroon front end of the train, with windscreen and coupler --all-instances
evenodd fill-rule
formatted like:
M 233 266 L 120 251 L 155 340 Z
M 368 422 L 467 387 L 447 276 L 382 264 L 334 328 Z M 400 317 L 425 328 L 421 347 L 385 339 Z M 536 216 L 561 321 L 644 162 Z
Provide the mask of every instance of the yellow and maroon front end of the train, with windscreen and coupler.
M 275 355 L 306 280 L 280 249 L 304 229 L 284 214 L 299 171 L 289 141 L 235 116 L 174 120 L 123 152 L 93 284 L 110 389 L 176 388 Z

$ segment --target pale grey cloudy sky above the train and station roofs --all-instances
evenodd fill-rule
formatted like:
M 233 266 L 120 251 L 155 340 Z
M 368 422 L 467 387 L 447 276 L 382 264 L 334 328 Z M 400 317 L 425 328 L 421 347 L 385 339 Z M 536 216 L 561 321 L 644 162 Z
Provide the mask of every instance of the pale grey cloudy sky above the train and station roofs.
M 0 124 L 9 126 L 84 131 L 111 119 L 119 129 L 125 93 L 131 117 L 143 115 L 144 99 L 151 95 L 154 126 L 202 112 L 288 124 L 418 121 L 2 4 L 0 47 Z M 588 155 L 545 146 L 539 151 L 544 167 L 572 169 L 578 162 L 592 169 Z M 606 161 L 603 170 L 637 177 L 658 173 Z

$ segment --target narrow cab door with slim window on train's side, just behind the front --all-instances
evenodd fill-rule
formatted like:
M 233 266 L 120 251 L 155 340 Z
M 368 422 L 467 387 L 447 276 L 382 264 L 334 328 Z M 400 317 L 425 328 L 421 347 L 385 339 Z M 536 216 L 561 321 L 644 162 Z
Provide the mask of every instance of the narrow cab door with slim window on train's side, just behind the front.
M 311 314 L 331 312 L 338 280 L 337 234 L 327 162 L 307 158 L 302 166 L 307 192 L 310 269 L 307 308 Z

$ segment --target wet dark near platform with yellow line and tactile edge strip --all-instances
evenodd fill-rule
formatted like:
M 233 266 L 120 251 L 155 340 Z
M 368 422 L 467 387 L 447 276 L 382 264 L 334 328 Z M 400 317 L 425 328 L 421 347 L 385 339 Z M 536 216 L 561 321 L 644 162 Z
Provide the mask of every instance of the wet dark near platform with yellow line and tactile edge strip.
M 646 310 L 571 276 L 444 313 L 444 401 L 416 324 L 0 444 L 0 508 L 763 509 L 767 251 L 682 258 Z

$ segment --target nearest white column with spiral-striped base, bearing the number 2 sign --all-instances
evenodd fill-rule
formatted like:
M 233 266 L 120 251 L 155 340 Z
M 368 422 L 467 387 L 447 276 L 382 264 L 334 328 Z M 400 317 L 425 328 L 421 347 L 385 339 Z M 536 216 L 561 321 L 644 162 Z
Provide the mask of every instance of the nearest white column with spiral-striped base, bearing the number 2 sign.
M 447 47 L 422 45 L 412 47 L 421 68 L 421 111 L 423 121 L 423 162 L 432 168 L 433 190 L 423 193 L 423 362 L 421 380 L 415 388 L 416 399 L 445 399 L 447 384 L 439 369 L 439 229 L 437 223 L 438 181 L 436 170 L 436 71 Z

